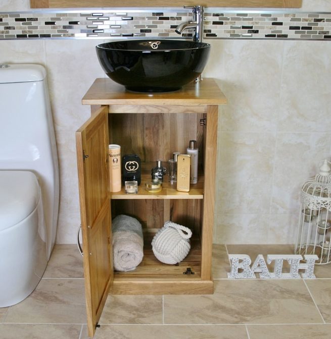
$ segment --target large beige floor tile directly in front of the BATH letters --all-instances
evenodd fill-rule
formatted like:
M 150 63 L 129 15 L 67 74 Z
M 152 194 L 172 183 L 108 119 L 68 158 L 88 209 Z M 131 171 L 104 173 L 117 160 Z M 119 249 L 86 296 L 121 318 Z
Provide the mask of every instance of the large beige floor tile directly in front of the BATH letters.
M 303 280 L 215 280 L 213 295 L 164 296 L 167 324 L 322 323 Z

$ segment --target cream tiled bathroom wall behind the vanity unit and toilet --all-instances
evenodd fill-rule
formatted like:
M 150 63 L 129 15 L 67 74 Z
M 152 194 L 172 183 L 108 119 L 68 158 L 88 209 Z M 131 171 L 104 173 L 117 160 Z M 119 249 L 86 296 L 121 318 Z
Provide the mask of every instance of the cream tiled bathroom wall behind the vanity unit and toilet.
M 171 26 L 190 16 L 181 8 L 141 9 L 140 12 L 109 10 L 109 15 L 105 11 L 82 9 L 51 12 L 44 16 L 44 11 L 31 11 L 29 0 L 2 0 L 0 30 L 14 29 L 0 33 L 0 63 L 35 63 L 47 70 L 61 178 L 57 243 L 75 243 L 80 224 L 75 131 L 90 116 L 89 107 L 81 105 L 81 98 L 94 79 L 105 77 L 95 46 L 110 39 L 126 38 L 110 34 L 136 33 L 159 38 L 158 34 L 163 33 L 180 38 Z M 67 15 L 63 16 L 64 13 Z M 81 13 L 85 16 L 80 16 Z M 102 16 L 92 16 L 92 13 Z M 143 13 L 144 19 L 136 20 Z M 211 44 L 211 54 L 204 77 L 214 78 L 228 99 L 219 113 L 215 243 L 294 242 L 301 184 L 316 174 L 319 161 L 331 158 L 331 43 L 327 37 L 330 13 L 331 0 L 303 0 L 303 7 L 298 10 L 255 13 L 245 9 L 206 10 L 208 32 L 204 33 L 204 40 Z M 103 21 L 100 20 L 103 16 L 120 19 L 109 26 L 118 24 L 121 28 L 109 27 L 114 31 L 103 33 L 81 32 L 81 29 L 108 29 L 108 26 L 99 27 L 104 24 L 98 22 Z M 88 17 L 95 20 L 87 20 Z M 122 20 L 122 17 L 132 17 L 132 20 Z M 146 20 L 146 17 L 153 19 Z M 79 24 L 74 24 L 77 21 Z M 43 27 L 42 32 L 31 28 L 36 22 L 38 29 Z M 98 23 L 98 28 L 87 28 L 87 25 L 95 26 L 93 22 Z M 278 25 L 272 25 L 274 22 Z M 153 25 L 164 27 L 158 32 L 156 27 L 150 27 Z M 27 31 L 22 30 L 28 26 Z M 253 28 L 248 28 L 251 26 Z M 16 31 L 16 27 L 21 30 Z M 75 27 L 77 32 L 73 32 Z M 30 29 L 32 33 L 28 32 Z M 140 31 L 149 29 L 152 32 Z M 69 33 L 86 36 L 62 36 Z M 15 37 L 5 38 L 5 34 Z M 27 35 L 27 38 L 17 38 L 16 34 Z M 30 34 L 39 34 L 39 37 L 29 38 Z M 40 34 L 51 34 L 51 37 L 40 38 Z M 52 34 L 61 37 L 52 37 Z M 98 36 L 87 37 L 87 34 Z M 261 34 L 276 34 L 276 37 Z M 288 37 L 277 37 L 277 34 L 288 34 Z

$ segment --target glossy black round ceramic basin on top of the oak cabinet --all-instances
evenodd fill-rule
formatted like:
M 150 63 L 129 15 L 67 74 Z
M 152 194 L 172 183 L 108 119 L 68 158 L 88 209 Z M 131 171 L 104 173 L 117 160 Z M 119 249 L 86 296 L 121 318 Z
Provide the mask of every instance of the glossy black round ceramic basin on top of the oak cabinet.
M 202 73 L 210 52 L 208 43 L 184 40 L 126 40 L 96 48 L 106 74 L 136 92 L 179 90 Z

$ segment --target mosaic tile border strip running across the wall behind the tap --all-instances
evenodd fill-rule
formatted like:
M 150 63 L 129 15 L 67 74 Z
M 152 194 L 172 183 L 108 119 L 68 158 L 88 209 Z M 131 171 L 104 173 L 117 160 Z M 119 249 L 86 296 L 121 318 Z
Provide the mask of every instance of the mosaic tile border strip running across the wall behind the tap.
M 0 12 L 1 39 L 191 38 L 175 28 L 192 14 L 182 9 Z M 331 12 L 258 12 L 205 9 L 205 39 L 331 40 Z

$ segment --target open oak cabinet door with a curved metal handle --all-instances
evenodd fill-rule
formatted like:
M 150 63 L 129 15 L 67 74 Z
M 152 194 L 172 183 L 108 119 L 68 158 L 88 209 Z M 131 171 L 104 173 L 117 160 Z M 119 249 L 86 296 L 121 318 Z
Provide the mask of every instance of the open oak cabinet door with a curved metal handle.
M 108 106 L 101 106 L 76 132 L 85 298 L 93 336 L 113 282 L 109 199 Z

